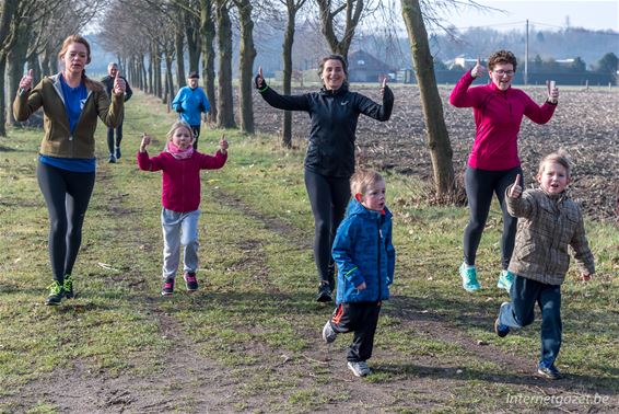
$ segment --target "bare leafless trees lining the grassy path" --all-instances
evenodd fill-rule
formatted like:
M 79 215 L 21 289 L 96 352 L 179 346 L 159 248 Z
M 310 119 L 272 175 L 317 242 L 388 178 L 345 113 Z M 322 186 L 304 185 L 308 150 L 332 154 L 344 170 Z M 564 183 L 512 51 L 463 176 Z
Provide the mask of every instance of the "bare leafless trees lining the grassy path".
M 401 8 L 417 68 L 435 186 L 439 196 L 445 198 L 449 198 L 455 188 L 452 148 L 424 19 L 435 22 L 433 11 L 436 8 L 455 3 L 455 0 L 400 0 L 397 4 Z M 265 13 L 279 13 L 285 24 L 281 55 L 283 91 L 290 93 L 294 27 L 301 10 L 306 19 L 314 15 L 319 22 L 330 51 L 346 58 L 360 21 L 376 11 L 396 10 L 395 5 L 396 0 L 389 0 L 387 9 L 381 0 L 4 0 L 0 22 L 0 78 L 4 78 L 4 66 L 9 62 L 8 93 L 12 97 L 26 61 L 35 72 L 35 81 L 57 71 L 55 54 L 62 39 L 90 23 L 94 10 L 105 9 L 107 12 L 100 20 L 101 43 L 118 56 L 120 70 L 132 85 L 170 103 L 176 87 L 186 84 L 186 62 L 188 71 L 198 71 L 201 67 L 211 102 L 211 120 L 221 128 L 231 128 L 236 127 L 232 79 L 232 45 L 233 34 L 236 34 L 240 42 L 240 127 L 244 133 L 253 134 L 252 83 L 256 58 L 253 36 L 255 24 L 265 19 Z M 393 19 L 393 14 L 388 16 Z M 4 88 L 0 89 L 4 92 Z M 8 120 L 12 123 L 7 96 L 2 95 L 0 101 L 1 113 L 4 114 L 7 108 Z M 5 119 L 1 120 L 0 135 L 3 135 Z M 290 146 L 290 114 L 284 117 L 282 129 L 282 143 Z

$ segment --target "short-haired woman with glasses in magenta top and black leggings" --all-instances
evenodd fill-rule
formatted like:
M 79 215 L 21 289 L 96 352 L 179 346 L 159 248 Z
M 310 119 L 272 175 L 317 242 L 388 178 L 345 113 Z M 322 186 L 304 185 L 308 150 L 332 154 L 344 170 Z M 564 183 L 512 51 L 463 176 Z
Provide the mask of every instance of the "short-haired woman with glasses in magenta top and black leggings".
M 513 275 L 507 271 L 514 250 L 516 218 L 506 210 L 504 197 L 516 176 L 523 176 L 518 159 L 517 138 L 523 116 L 536 124 L 546 124 L 552 117 L 559 90 L 548 89 L 548 100 L 539 106 L 525 92 L 512 88 L 516 72 L 516 57 L 507 50 L 493 53 L 488 59 L 491 82 L 469 88 L 476 78 L 483 77 L 486 68 L 477 65 L 458 81 L 449 102 L 457 107 L 472 107 L 475 142 L 465 172 L 465 187 L 470 208 L 464 233 L 464 262 L 459 267 L 463 287 L 467 291 L 481 289 L 477 280 L 475 258 L 486 226 L 492 195 L 495 194 L 503 211 L 501 238 L 502 271 L 497 286 L 510 291 Z M 523 184 L 524 185 L 524 184 Z

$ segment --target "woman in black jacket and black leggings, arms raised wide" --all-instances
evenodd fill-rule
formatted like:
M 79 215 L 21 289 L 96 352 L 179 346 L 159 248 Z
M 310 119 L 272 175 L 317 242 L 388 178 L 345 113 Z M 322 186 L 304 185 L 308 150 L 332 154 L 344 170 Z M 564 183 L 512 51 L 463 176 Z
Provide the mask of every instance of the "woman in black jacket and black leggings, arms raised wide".
M 323 80 L 319 92 L 301 95 L 280 95 L 270 89 L 260 68 L 255 82 L 262 99 L 271 106 L 285 111 L 305 111 L 312 119 L 310 142 L 305 156 L 305 187 L 314 215 L 314 260 L 319 286 L 316 299 L 332 300 L 335 265 L 331 258 L 334 237 L 350 199 L 350 176 L 354 173 L 354 140 L 360 114 L 388 120 L 394 107 L 394 94 L 382 84 L 383 104 L 350 92 L 347 64 L 339 55 L 329 55 L 319 62 Z

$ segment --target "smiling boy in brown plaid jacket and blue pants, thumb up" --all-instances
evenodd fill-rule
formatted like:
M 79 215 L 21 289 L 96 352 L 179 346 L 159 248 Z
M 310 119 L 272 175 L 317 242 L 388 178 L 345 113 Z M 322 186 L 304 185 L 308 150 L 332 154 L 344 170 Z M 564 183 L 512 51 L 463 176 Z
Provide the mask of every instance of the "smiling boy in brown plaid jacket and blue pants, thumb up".
M 585 237 L 579 206 L 565 194 L 570 183 L 570 163 L 563 154 L 544 158 L 537 174 L 539 188 L 523 193 L 519 175 L 507 187 L 509 212 L 518 217 L 516 245 L 510 272 L 516 275 L 510 296 L 501 304 L 494 332 L 503 337 L 511 327 L 533 323 L 535 303 L 541 310 L 541 356 L 538 373 L 561 378 L 554 360 L 561 347 L 561 284 L 570 265 L 568 246 L 573 251 L 581 278 L 595 273 L 593 254 Z

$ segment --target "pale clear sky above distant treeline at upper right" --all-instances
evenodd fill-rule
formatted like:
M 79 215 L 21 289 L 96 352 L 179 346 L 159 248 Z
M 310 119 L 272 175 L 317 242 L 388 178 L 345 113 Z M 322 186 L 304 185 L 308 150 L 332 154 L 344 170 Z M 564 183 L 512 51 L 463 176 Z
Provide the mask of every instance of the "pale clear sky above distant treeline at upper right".
M 538 30 L 560 30 L 569 25 L 589 30 L 612 30 L 619 32 L 619 0 L 477 0 L 477 3 L 507 13 L 483 12 L 469 8 L 444 15 L 444 19 L 458 28 L 488 26 L 495 30 L 513 30 L 535 24 Z

